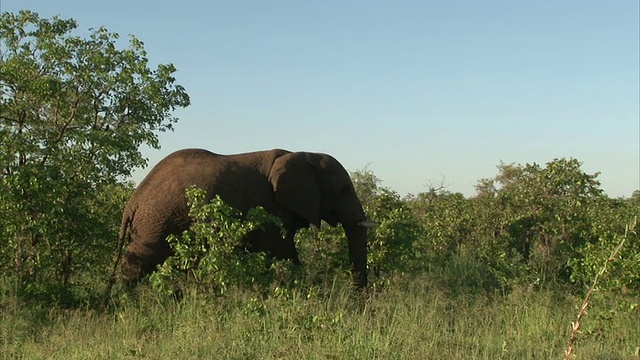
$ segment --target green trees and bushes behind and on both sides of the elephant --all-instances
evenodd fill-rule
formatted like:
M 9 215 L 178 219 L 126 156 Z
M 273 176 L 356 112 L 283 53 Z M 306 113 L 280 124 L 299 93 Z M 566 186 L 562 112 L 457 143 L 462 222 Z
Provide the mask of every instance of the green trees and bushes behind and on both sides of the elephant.
M 72 35 L 74 20 L 22 11 L 2 13 L 0 22 L 0 291 L 95 304 L 133 189 L 123 179 L 145 164 L 142 144 L 159 147 L 157 133 L 171 129 L 172 111 L 189 97 L 171 64 L 148 68 L 134 37 L 118 50 L 118 35 L 104 28 Z M 429 273 L 451 291 L 525 285 L 581 293 L 608 263 L 599 289 L 637 307 L 640 193 L 612 199 L 580 165 L 500 164 L 470 198 L 446 189 L 402 197 L 370 171 L 353 173 L 379 224 L 369 239 L 372 287 Z M 348 270 L 341 232 L 298 235 L 304 279 Z

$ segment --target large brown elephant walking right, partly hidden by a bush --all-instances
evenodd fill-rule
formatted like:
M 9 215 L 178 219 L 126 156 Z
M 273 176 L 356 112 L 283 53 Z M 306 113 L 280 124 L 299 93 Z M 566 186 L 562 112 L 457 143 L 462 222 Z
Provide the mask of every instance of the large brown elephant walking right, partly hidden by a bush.
M 144 178 L 125 206 L 114 273 L 122 264 L 125 282 L 136 282 L 171 256 L 166 240 L 188 229 L 185 189 L 195 185 L 228 205 L 246 212 L 262 206 L 282 220 L 277 226 L 247 234 L 248 251 L 300 263 L 296 232 L 322 220 L 338 223 L 348 239 L 349 257 L 358 288 L 367 285 L 368 222 L 347 171 L 332 156 L 282 149 L 220 155 L 204 149 L 178 150 L 161 160 Z

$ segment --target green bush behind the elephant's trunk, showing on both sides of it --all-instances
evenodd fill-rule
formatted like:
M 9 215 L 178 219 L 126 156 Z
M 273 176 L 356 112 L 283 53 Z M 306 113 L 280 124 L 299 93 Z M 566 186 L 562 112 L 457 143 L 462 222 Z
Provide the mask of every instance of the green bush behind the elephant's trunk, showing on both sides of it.
M 368 273 L 374 287 L 386 285 L 396 273 L 419 269 L 416 246 L 421 226 L 398 193 L 380 185 L 381 181 L 367 169 L 351 173 L 356 194 L 367 219 L 377 226 L 368 235 Z M 322 224 L 319 229 L 301 229 L 296 236 L 307 276 L 312 283 L 333 278 L 349 267 L 345 234 L 342 227 Z

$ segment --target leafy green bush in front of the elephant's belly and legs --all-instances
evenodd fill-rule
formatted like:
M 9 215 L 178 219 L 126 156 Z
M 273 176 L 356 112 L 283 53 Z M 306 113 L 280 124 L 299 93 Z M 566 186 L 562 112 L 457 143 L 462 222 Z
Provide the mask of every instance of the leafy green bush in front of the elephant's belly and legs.
M 204 190 L 195 186 L 186 195 L 192 224 L 181 236 L 167 238 L 174 255 L 151 275 L 153 287 L 169 293 L 196 288 L 224 294 L 231 286 L 268 284 L 265 254 L 247 252 L 243 237 L 270 223 L 281 227 L 281 220 L 261 207 L 243 215 L 219 196 L 205 202 Z

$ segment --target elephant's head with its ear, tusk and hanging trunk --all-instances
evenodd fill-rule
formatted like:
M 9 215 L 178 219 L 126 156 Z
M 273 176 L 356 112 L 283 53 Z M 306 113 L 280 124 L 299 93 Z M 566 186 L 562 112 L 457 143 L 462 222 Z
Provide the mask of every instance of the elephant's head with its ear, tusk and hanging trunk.
M 342 224 L 349 242 L 349 257 L 356 272 L 356 285 L 367 284 L 367 228 L 362 205 L 349 174 L 333 157 L 296 152 L 277 158 L 269 180 L 276 202 L 305 224 Z M 295 226 L 295 225 L 294 225 Z

